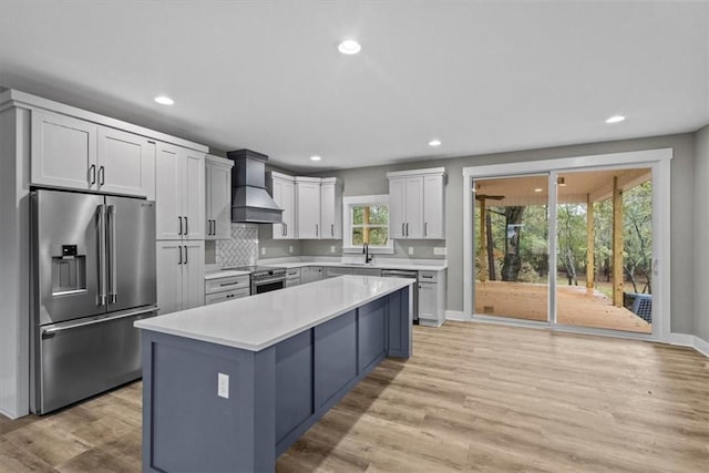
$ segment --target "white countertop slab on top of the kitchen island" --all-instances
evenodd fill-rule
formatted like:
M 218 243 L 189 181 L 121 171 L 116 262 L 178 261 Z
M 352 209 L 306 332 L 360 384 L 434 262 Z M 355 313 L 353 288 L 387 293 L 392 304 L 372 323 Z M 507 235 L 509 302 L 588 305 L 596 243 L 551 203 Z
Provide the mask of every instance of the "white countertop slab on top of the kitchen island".
M 259 351 L 414 279 L 342 276 L 138 320 L 135 327 Z

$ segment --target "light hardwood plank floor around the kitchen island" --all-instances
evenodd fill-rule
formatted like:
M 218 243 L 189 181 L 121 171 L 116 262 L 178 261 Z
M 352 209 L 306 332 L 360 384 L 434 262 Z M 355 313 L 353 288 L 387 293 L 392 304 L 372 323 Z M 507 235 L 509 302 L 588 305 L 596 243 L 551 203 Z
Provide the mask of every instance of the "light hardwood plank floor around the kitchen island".
M 1 472 L 140 471 L 141 383 L 0 417 Z M 286 472 L 707 472 L 709 359 L 481 323 L 415 327 L 277 463 Z

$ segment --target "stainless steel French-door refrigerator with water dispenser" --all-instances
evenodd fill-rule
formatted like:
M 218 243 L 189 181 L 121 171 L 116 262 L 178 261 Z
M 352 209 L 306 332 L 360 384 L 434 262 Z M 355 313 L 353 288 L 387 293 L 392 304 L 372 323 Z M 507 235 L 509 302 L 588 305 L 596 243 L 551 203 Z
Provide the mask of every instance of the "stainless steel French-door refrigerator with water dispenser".
M 141 377 L 156 313 L 155 203 L 32 193 L 30 394 L 41 414 Z

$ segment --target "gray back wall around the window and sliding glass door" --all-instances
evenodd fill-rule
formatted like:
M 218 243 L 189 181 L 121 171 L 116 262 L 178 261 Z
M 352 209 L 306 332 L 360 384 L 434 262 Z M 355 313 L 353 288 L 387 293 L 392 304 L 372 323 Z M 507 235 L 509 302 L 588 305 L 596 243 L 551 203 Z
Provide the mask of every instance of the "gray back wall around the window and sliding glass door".
M 706 131 L 705 131 L 706 135 Z M 703 141 L 706 148 L 706 138 Z M 671 330 L 693 333 L 693 238 L 695 202 L 695 134 L 657 136 L 650 138 L 617 142 L 590 143 L 543 150 L 486 154 L 450 160 L 407 162 L 388 166 L 363 167 L 320 173 L 320 176 L 340 177 L 345 182 L 343 195 L 387 194 L 389 185 L 386 173 L 427 167 L 445 166 L 449 175 L 446 187 L 446 247 L 448 247 L 448 310 L 463 310 L 463 167 L 483 164 L 520 163 L 571 156 L 607 154 L 661 147 L 674 148 L 671 164 Z M 706 154 L 706 153 L 705 153 Z M 709 166 L 708 166 L 709 167 Z M 709 169 L 707 171 L 709 177 Z M 705 181 L 706 182 L 706 181 Z M 709 193 L 709 191 L 707 191 Z M 709 219 L 708 219 L 709 220 Z M 302 241 L 305 255 L 329 255 L 328 241 Z M 409 246 L 404 243 L 405 247 Z M 433 246 L 439 243 L 414 243 L 414 256 L 432 256 Z M 403 255 L 401 245 L 398 253 Z M 706 247 L 706 246 L 705 246 Z M 403 255 L 405 256 L 405 255 Z M 700 279 L 698 279 L 700 280 Z M 708 296 L 709 298 L 709 296 Z M 698 306 L 702 307 L 702 306 Z M 707 307 L 707 306 L 703 306 Z M 709 329 L 709 322 L 702 327 Z M 707 331 L 705 339 L 707 339 Z

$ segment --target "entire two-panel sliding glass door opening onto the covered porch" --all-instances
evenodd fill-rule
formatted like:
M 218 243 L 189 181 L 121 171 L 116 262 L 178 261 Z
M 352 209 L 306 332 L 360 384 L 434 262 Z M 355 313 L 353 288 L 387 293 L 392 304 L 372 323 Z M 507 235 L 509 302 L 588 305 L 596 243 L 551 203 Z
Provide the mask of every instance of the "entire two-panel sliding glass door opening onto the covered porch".
M 471 185 L 475 317 L 653 333 L 651 166 Z

